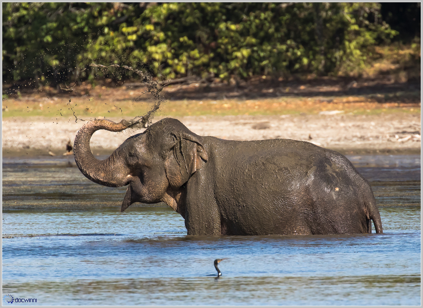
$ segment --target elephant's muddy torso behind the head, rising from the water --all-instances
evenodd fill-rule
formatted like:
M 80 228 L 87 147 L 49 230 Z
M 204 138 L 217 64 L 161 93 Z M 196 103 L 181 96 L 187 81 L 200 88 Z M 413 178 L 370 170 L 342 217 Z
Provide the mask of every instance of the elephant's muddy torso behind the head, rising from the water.
M 204 224 L 222 235 L 368 233 L 370 219 L 382 230 L 370 185 L 335 151 L 290 139 L 203 144 L 209 160 L 187 182 L 188 234 Z

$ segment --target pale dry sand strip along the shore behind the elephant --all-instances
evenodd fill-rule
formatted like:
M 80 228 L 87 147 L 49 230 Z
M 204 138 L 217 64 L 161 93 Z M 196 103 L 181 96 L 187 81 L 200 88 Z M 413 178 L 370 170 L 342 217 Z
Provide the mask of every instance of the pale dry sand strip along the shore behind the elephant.
M 228 140 L 289 138 L 309 141 L 344 154 L 420 153 L 421 123 L 420 115 L 416 114 L 187 116 L 179 120 L 198 135 Z M 3 155 L 48 155 L 49 151 L 62 155 L 66 143 L 68 140 L 73 143 L 83 123 L 75 123 L 74 119 L 4 118 Z M 91 148 L 94 153 L 111 151 L 138 132 L 142 130 L 98 131 L 91 139 Z

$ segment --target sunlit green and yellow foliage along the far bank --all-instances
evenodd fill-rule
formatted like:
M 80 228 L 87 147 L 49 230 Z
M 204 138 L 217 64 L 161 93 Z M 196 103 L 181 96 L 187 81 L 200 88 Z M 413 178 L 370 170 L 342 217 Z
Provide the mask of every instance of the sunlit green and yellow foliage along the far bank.
M 147 67 L 166 78 L 357 74 L 371 47 L 397 34 L 379 10 L 377 3 L 3 3 L 3 80 L 131 77 L 90 63 Z

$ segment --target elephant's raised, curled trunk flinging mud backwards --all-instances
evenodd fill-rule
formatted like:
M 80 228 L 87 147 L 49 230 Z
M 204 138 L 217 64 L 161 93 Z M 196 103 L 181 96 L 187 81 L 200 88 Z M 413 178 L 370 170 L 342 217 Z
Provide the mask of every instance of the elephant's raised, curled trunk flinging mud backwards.
M 91 152 L 90 139 L 93 133 L 99 129 L 121 132 L 130 126 L 130 123 L 125 120 L 115 123 L 110 120 L 96 119 L 81 127 L 75 137 L 74 157 L 84 176 L 97 184 L 109 187 L 122 187 L 128 184 L 130 170 L 126 166 L 124 158 L 115 151 L 107 159 L 96 159 Z

